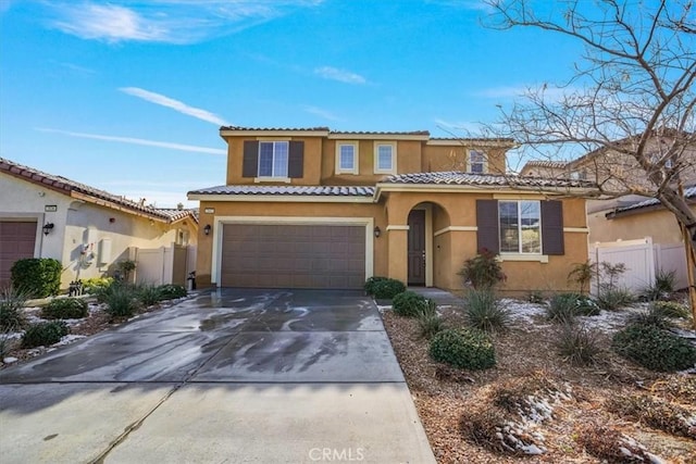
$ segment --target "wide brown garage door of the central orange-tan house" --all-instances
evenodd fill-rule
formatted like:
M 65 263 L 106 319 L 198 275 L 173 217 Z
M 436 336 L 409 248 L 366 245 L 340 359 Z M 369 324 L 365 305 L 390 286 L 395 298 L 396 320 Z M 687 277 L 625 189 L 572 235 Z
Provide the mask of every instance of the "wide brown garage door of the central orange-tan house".
M 222 287 L 362 288 L 364 226 L 223 227 Z

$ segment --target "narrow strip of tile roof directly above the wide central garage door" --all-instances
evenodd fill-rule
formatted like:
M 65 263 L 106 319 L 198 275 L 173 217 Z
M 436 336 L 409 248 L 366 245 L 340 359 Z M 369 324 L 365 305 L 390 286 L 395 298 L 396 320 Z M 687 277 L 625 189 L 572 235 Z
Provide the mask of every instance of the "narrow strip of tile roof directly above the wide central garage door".
M 374 195 L 374 187 L 233 185 L 202 188 L 189 191 L 188 195 L 372 197 Z

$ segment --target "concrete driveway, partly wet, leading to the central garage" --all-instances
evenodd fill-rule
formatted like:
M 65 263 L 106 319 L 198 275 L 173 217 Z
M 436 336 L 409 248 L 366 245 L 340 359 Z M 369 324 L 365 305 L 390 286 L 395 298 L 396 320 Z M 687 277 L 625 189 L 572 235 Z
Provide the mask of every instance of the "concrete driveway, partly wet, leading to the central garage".
M 4 463 L 435 462 L 374 303 L 202 293 L 0 372 Z

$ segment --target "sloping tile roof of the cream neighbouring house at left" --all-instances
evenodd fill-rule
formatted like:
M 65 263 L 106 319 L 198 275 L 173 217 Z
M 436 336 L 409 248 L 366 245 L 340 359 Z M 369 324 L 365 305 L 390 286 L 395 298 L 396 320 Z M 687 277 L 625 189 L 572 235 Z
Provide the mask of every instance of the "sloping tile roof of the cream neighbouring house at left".
M 87 198 L 94 199 L 95 202 L 111 203 L 125 210 L 129 210 L 134 213 L 145 214 L 152 218 L 158 218 L 167 223 L 179 221 L 186 216 L 191 216 L 196 220 L 195 214 L 191 212 L 191 210 L 170 210 L 148 206 L 141 204 L 140 202 L 128 200 L 117 195 L 109 193 L 108 191 L 100 190 L 75 180 L 71 180 L 63 176 L 57 176 L 39 170 L 35 170 L 33 167 L 24 166 L 4 158 L 0 158 L 0 173 L 11 175 L 13 177 L 39 185 L 45 188 L 49 188 L 69 197 L 73 196 L 73 193 L 82 193 Z

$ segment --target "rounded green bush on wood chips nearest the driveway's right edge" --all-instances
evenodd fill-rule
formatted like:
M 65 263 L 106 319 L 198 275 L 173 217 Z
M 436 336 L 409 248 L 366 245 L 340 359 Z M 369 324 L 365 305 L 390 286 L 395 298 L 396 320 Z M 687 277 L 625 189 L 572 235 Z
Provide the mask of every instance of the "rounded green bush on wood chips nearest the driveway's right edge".
M 472 328 L 439 331 L 431 340 L 430 354 L 437 362 L 471 371 L 496 365 L 493 341 L 485 333 Z

